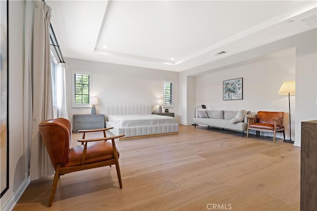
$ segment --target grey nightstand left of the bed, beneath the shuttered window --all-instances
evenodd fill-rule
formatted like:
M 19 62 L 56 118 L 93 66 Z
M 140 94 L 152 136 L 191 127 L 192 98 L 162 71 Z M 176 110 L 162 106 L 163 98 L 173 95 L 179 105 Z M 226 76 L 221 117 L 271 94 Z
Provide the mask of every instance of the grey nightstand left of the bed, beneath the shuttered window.
M 74 114 L 73 115 L 73 132 L 78 130 L 92 130 L 105 128 L 104 114 Z

